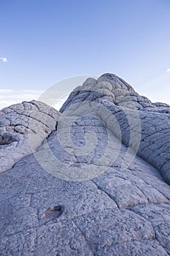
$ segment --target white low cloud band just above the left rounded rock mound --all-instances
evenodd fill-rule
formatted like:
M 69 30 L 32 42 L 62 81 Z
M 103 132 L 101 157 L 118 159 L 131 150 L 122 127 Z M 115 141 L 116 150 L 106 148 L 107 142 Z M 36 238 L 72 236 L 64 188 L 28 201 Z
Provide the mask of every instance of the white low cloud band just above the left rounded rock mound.
M 0 89 L 0 109 L 9 107 L 10 105 L 21 103 L 23 101 L 30 101 L 32 99 L 39 99 L 43 91 L 34 90 L 8 90 Z

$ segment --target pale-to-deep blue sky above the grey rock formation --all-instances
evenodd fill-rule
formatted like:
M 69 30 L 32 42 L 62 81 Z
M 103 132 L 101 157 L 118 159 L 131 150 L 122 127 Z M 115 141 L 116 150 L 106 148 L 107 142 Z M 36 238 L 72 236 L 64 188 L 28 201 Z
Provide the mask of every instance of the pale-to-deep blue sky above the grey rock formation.
M 169 0 L 8 0 L 0 10 L 0 107 L 104 72 L 170 104 Z

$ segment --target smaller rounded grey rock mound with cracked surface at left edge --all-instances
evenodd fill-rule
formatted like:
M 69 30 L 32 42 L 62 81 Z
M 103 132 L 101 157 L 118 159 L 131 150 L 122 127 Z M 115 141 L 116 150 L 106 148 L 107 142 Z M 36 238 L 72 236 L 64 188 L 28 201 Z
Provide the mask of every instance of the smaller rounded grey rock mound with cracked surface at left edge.
M 33 100 L 0 111 L 0 173 L 31 154 L 55 130 L 59 113 Z

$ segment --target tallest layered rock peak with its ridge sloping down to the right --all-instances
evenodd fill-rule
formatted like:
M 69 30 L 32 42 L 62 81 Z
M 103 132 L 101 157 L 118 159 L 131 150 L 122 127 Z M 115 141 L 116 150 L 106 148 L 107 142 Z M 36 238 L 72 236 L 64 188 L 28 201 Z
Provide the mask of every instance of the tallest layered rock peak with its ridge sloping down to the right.
M 82 102 L 90 102 L 90 113 L 94 112 L 126 146 L 131 146 L 140 157 L 156 167 L 170 184 L 169 105 L 150 102 L 112 74 L 101 75 L 98 81 L 86 80 L 70 94 L 61 112 L 69 108 L 67 115 L 77 115 L 80 105 L 83 115 L 88 111 L 87 105 L 82 107 Z

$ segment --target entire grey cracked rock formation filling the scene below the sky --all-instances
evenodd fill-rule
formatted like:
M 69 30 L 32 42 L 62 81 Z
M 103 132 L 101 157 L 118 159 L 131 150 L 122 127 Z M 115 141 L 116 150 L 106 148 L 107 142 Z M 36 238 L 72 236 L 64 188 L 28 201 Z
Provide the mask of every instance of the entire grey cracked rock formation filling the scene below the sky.
M 170 255 L 169 105 L 104 74 L 0 126 L 0 255 Z

